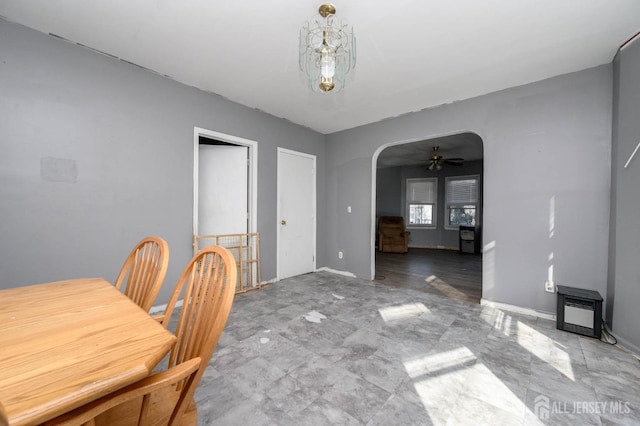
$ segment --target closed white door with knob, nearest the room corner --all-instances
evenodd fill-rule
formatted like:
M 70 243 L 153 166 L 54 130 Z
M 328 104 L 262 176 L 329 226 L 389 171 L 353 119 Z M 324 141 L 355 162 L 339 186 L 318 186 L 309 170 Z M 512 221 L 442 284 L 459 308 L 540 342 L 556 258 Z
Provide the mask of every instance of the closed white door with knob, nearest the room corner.
M 278 279 L 315 270 L 316 157 L 278 148 Z

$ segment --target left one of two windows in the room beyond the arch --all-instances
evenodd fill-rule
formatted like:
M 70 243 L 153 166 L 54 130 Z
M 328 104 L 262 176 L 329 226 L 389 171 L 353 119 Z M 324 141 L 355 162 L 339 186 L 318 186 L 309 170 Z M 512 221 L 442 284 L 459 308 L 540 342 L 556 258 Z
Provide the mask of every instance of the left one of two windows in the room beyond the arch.
M 438 179 L 407 179 L 408 226 L 436 226 Z

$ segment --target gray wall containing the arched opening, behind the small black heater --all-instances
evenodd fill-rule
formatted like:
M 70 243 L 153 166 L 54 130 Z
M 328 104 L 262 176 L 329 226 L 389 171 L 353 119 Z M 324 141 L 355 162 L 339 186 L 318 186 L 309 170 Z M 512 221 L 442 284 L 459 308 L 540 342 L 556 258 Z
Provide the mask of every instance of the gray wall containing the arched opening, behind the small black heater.
M 372 276 L 382 147 L 471 131 L 484 142 L 483 298 L 553 312 L 550 266 L 557 284 L 605 294 L 611 108 L 603 65 L 328 136 L 329 266 Z

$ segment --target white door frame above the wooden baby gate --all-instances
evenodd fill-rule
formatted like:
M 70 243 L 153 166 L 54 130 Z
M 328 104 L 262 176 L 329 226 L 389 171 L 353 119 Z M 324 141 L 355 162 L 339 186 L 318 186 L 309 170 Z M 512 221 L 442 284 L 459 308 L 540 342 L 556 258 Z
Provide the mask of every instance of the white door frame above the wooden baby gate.
M 258 231 L 258 142 L 240 138 L 226 133 L 207 130 L 200 127 L 193 128 L 193 235 L 198 235 L 198 191 L 199 191 L 199 160 L 200 136 L 228 142 L 249 148 L 247 171 L 247 232 Z

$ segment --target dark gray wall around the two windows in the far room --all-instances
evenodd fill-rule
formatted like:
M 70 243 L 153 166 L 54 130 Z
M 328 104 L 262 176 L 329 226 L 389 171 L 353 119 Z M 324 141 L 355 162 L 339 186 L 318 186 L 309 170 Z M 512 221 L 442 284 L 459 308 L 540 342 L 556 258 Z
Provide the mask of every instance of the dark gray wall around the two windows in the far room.
M 465 161 L 460 167 L 443 167 L 440 171 L 431 171 L 425 166 L 398 166 L 377 170 L 376 194 L 378 199 L 383 199 L 384 204 L 376 200 L 376 217 L 380 216 L 404 216 L 406 218 L 406 182 L 413 178 L 438 178 L 438 207 L 436 212 L 437 226 L 435 229 L 411 228 L 409 235 L 409 247 L 438 247 L 458 249 L 458 230 L 445 229 L 445 182 L 449 176 L 480 176 L 480 203 L 477 216 L 477 225 L 482 225 L 482 160 Z M 381 205 L 382 204 L 382 205 Z M 392 205 L 393 204 L 393 205 Z M 394 211 L 395 214 L 386 214 L 386 211 Z M 405 221 L 406 222 L 406 221 Z

